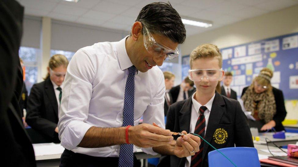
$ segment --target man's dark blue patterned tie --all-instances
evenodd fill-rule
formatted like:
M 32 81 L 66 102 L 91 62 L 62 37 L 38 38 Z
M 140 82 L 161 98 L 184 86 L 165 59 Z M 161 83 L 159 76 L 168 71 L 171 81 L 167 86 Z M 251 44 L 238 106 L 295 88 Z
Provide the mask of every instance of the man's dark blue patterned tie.
M 136 67 L 128 68 L 129 75 L 127 77 L 124 93 L 124 108 L 123 108 L 123 127 L 128 125 L 133 126 L 133 106 L 135 100 L 135 74 Z M 119 154 L 119 167 L 133 166 L 133 144 L 121 144 Z

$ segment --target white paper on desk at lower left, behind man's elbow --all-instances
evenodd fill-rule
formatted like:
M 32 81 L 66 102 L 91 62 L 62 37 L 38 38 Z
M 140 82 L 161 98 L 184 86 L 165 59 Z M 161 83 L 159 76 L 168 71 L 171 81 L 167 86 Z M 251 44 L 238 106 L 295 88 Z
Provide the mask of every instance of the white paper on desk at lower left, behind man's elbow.
M 62 154 L 64 151 L 64 147 L 60 145 L 60 143 L 39 143 L 32 144 L 34 148 L 35 156 L 39 155 L 54 155 L 54 154 Z

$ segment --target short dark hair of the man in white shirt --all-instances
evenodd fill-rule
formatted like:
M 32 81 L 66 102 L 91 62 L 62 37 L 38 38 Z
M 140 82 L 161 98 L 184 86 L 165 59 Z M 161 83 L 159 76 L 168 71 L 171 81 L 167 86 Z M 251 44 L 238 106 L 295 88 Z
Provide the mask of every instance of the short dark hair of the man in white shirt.
M 137 21 L 146 26 L 150 33 L 168 37 L 174 43 L 181 44 L 186 38 L 185 26 L 170 2 L 154 2 L 146 5 L 136 18 Z

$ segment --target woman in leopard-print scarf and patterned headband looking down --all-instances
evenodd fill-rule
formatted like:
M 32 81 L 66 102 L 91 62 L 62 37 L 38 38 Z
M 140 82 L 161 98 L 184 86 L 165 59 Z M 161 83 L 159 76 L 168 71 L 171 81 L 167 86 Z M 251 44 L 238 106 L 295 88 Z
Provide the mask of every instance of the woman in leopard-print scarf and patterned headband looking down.
M 249 87 L 242 91 L 241 99 L 246 111 L 251 111 L 254 120 L 249 120 L 250 127 L 257 127 L 259 131 L 274 128 L 276 131 L 285 130 L 282 121 L 287 112 L 282 91 L 271 85 L 273 72 L 263 68 L 253 79 Z

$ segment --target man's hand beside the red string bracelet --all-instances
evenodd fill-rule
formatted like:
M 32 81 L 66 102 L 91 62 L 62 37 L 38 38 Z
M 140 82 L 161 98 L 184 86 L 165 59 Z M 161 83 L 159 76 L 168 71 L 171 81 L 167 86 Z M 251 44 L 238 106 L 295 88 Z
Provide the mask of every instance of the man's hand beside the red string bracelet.
M 150 124 L 129 127 L 129 143 L 141 148 L 158 147 L 173 141 L 172 132 Z

